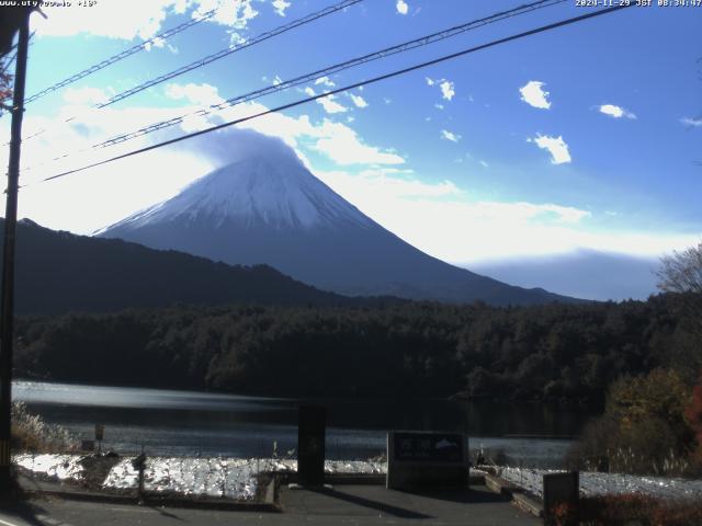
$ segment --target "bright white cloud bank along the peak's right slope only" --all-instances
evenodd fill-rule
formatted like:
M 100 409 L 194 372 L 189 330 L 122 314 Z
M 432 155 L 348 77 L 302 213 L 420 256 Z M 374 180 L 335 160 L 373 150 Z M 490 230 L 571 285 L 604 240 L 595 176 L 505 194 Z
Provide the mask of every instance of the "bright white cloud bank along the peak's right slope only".
M 590 231 L 589 210 L 554 203 L 472 201 L 451 181 L 428 183 L 397 170 L 315 173 L 401 239 L 454 263 L 582 249 L 657 256 L 699 242 L 699 236 L 667 231 Z

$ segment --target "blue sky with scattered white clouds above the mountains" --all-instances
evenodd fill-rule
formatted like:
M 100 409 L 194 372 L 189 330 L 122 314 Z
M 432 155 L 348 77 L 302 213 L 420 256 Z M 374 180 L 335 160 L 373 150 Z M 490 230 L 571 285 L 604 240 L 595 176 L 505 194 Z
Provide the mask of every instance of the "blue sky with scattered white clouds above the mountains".
M 33 19 L 27 93 L 217 3 L 98 0 L 93 7 L 47 9 L 48 20 Z M 236 134 L 207 139 L 224 145 L 217 155 L 186 141 L 53 183 L 38 180 L 162 136 L 36 167 L 43 159 L 522 2 L 365 0 L 109 108 L 88 110 L 332 3 L 226 1 L 213 20 L 32 103 L 25 135 L 48 132 L 25 144 L 24 165 L 32 168 L 23 173 L 20 214 L 50 228 L 91 232 L 227 162 L 226 145 Z M 575 0 L 563 2 L 229 108 L 208 122 L 188 122 L 177 132 L 586 12 Z M 650 260 L 701 240 L 701 28 L 702 7 L 631 8 L 248 127 L 282 137 L 361 210 L 450 262 L 503 264 L 582 251 Z M 80 118 L 63 123 L 73 115 Z M 7 134 L 7 115 L 0 127 Z

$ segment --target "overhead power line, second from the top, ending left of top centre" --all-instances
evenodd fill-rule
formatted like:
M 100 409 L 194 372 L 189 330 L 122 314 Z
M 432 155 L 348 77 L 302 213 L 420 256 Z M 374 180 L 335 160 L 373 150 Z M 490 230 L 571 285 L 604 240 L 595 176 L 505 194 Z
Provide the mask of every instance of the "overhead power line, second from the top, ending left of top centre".
M 160 77 L 157 77 L 155 79 L 148 80 L 148 81 L 146 81 L 146 82 L 139 84 L 139 85 L 135 85 L 134 88 L 131 88 L 131 89 L 125 90 L 125 91 L 123 91 L 121 93 L 117 93 L 117 94 L 111 96 L 110 99 L 107 99 L 106 101 L 93 105 L 90 108 L 90 111 L 101 110 L 103 107 L 106 107 L 106 106 L 109 106 L 111 104 L 114 104 L 115 102 L 122 101 L 122 100 L 127 99 L 127 98 L 129 98 L 132 95 L 140 93 L 141 91 L 147 90 L 148 88 L 151 88 L 154 85 L 160 84 L 161 82 L 166 82 L 167 80 L 171 80 L 171 79 L 174 79 L 176 77 L 180 77 L 183 73 L 186 73 L 186 72 L 192 71 L 194 69 L 201 68 L 201 67 L 206 66 L 208 64 L 212 64 L 215 60 L 219 60 L 220 58 L 227 57 L 227 56 L 229 56 L 229 55 L 231 55 L 234 53 L 240 52 L 240 50 L 246 49 L 248 47 L 251 47 L 251 46 L 253 46 L 256 44 L 259 44 L 261 42 L 264 42 L 264 41 L 268 41 L 270 38 L 273 38 L 274 36 L 278 36 L 278 35 L 281 35 L 283 33 L 286 33 L 286 32 L 288 32 L 291 30 L 294 30 L 295 27 L 298 27 L 301 25 L 308 24 L 310 22 L 319 20 L 319 19 L 321 19 L 324 16 L 327 16 L 329 14 L 336 13 L 337 11 L 341 11 L 342 9 L 350 8 L 351 5 L 354 5 L 354 4 L 360 3 L 363 0 L 342 0 L 339 3 L 329 5 L 329 7 L 322 9 L 320 11 L 315 11 L 314 13 L 310 13 L 310 14 L 308 14 L 306 16 L 303 16 L 302 19 L 294 20 L 294 21 L 292 21 L 292 22 L 290 22 L 287 24 L 280 25 L 274 30 L 268 31 L 265 33 L 261 33 L 260 35 L 258 35 L 256 37 L 253 37 L 253 38 L 251 38 L 249 41 L 246 41 L 244 44 L 240 44 L 238 46 L 226 47 L 224 49 L 220 49 L 217 53 L 214 53 L 212 55 L 207 55 L 204 58 L 195 60 L 194 62 L 191 62 L 189 65 L 182 66 L 182 67 L 180 67 L 178 69 L 174 69 L 173 71 L 170 71 L 168 73 L 161 75 Z M 69 123 L 71 121 L 75 121 L 76 118 L 78 118 L 78 116 L 75 115 L 72 117 L 69 117 L 69 118 L 65 119 L 64 122 L 65 123 Z M 32 139 L 32 138 L 34 138 L 34 137 L 36 137 L 38 135 L 42 135 L 45 132 L 46 132 L 46 129 L 41 129 L 41 130 L 36 132 L 35 134 L 26 137 L 24 140 Z

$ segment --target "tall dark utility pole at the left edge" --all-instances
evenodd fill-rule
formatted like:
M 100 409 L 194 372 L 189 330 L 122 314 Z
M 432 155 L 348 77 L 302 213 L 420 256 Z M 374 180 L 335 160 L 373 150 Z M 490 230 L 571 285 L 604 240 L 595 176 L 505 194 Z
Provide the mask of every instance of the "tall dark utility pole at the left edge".
M 14 318 L 14 236 L 18 222 L 18 190 L 20 181 L 20 149 L 22 146 L 22 117 L 24 113 L 24 82 L 30 42 L 30 14 L 26 9 L 20 23 L 18 61 L 14 70 L 12 99 L 12 129 L 8 168 L 8 201 L 4 214 L 4 251 L 2 254 L 2 296 L 0 311 L 0 499 L 12 491 L 10 456 L 12 408 L 12 344 Z

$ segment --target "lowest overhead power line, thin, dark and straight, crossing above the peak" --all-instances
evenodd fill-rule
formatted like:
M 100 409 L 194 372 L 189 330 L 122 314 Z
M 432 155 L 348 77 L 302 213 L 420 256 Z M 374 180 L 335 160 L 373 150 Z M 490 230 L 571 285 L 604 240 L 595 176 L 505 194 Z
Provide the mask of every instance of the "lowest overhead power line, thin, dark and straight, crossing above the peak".
M 66 172 L 58 173 L 56 175 L 52 175 L 49 178 L 45 178 L 42 181 L 53 181 L 55 179 L 65 178 L 66 175 L 70 175 L 70 174 L 78 173 L 78 172 L 82 172 L 82 171 L 89 170 L 91 168 L 95 168 L 95 167 L 100 167 L 100 165 L 103 165 L 103 164 L 107 164 L 110 162 L 117 161 L 117 160 L 121 160 L 121 159 L 126 159 L 128 157 L 133 157 L 133 156 L 136 156 L 136 155 L 139 155 L 139 153 L 145 153 L 147 151 L 151 151 L 151 150 L 155 150 L 155 149 L 158 149 L 158 148 L 162 148 L 165 146 L 170 146 L 170 145 L 173 145 L 176 142 L 180 142 L 180 141 L 185 140 L 185 139 L 191 139 L 193 137 L 197 137 L 197 136 L 201 136 L 201 135 L 210 134 L 212 132 L 216 132 L 218 129 L 227 128 L 229 126 L 235 126 L 237 124 L 241 124 L 241 123 L 245 123 L 245 122 L 248 122 L 248 121 L 252 121 L 254 118 L 263 117 L 265 115 L 270 115 L 270 114 L 273 114 L 273 113 L 279 113 L 279 112 L 282 112 L 282 111 L 285 111 L 285 110 L 290 110 L 292 107 L 296 107 L 296 106 L 299 106 L 302 104 L 306 104 L 308 102 L 317 101 L 317 100 L 324 99 L 326 96 L 336 95 L 336 94 L 342 93 L 344 91 L 353 90 L 353 89 L 359 88 L 361 85 L 374 84 L 374 83 L 381 82 L 383 80 L 392 79 L 394 77 L 399 77 L 401 75 L 406 75 L 406 73 L 409 73 L 409 72 L 412 72 L 412 71 L 417 71 L 418 69 L 423 69 L 423 68 L 428 68 L 430 66 L 434 66 L 434 65 L 440 64 L 440 62 L 445 62 L 448 60 L 452 60 L 454 58 L 458 58 L 458 57 L 462 57 L 464 55 L 468 55 L 468 54 L 476 53 L 476 52 L 479 52 L 479 50 L 483 50 L 483 49 L 487 49 L 489 47 L 494 47 L 494 46 L 497 46 L 497 45 L 500 45 L 500 44 L 506 44 L 508 42 L 517 41 L 519 38 L 524 38 L 526 36 L 535 35 L 535 34 L 539 34 L 539 33 L 544 33 L 546 31 L 555 30 L 557 27 L 563 27 L 565 25 L 570 25 L 570 24 L 575 24 L 575 23 L 578 23 L 578 22 L 582 22 L 585 20 L 592 19 L 592 18 L 596 18 L 596 16 L 601 16 L 601 15 L 604 15 L 604 14 L 609 14 L 609 13 L 612 13 L 614 11 L 619 11 L 619 10 L 622 10 L 622 9 L 631 8 L 633 5 L 635 5 L 635 4 L 631 3 L 631 4 L 616 5 L 616 7 L 607 8 L 607 9 L 602 9 L 602 10 L 599 10 L 599 11 L 595 11 L 595 12 L 591 12 L 591 13 L 582 14 L 580 16 L 574 16 L 574 18 L 570 18 L 570 19 L 562 20 L 559 22 L 554 22 L 552 24 L 542 25 L 542 26 L 536 27 L 534 30 L 529 30 L 529 31 L 525 31 L 523 33 L 518 33 L 518 34 L 514 34 L 514 35 L 511 35 L 511 36 L 499 38 L 497 41 L 491 41 L 491 42 L 488 42 L 487 44 L 482 44 L 479 46 L 469 47 L 467 49 L 463 49 L 461 52 L 452 53 L 450 55 L 443 55 L 443 56 L 441 56 L 439 58 L 434 58 L 434 59 L 426 61 L 426 62 L 417 64 L 417 65 L 410 66 L 408 68 L 398 69 L 398 70 L 395 70 L 393 72 L 381 75 L 378 77 L 374 77 L 374 78 L 369 79 L 369 80 L 364 80 L 364 81 L 361 81 L 361 82 L 355 82 L 353 84 L 348 84 L 348 85 L 344 85 L 343 88 L 338 88 L 338 89 L 331 90 L 331 91 L 329 91 L 327 93 L 320 93 L 318 95 L 301 99 L 301 100 L 297 100 L 295 102 L 291 102 L 291 103 L 283 104 L 281 106 L 271 108 L 271 110 L 267 110 L 267 111 L 253 114 L 253 115 L 249 115 L 247 117 L 238 118 L 238 119 L 235 119 L 235 121 L 229 121 L 228 123 L 223 123 L 223 124 L 219 124 L 219 125 L 216 125 L 216 126 L 211 126 L 210 128 L 201 129 L 199 132 L 193 132 L 191 134 L 183 135 L 181 137 L 176 137 L 173 139 L 165 140 L 165 141 L 159 142 L 157 145 L 151 145 L 151 146 L 147 146 L 147 147 L 144 147 L 144 148 L 139 148 L 137 150 L 132 150 L 129 152 L 112 157 L 110 159 L 104 159 L 104 160 L 99 161 L 99 162 L 93 162 L 91 164 L 87 164 L 87 165 L 81 167 L 81 168 L 76 168 L 73 170 L 69 170 L 69 171 L 66 171 Z

